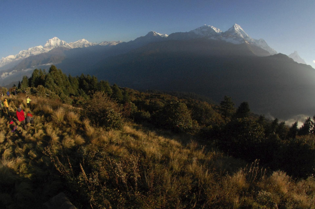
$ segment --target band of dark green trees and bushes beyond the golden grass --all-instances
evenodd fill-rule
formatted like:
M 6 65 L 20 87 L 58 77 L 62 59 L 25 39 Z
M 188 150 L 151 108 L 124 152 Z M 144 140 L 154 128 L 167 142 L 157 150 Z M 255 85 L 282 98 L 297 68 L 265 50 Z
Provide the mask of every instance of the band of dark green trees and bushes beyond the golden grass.
M 289 127 L 277 118 L 268 120 L 251 113 L 248 102 L 235 108 L 229 96 L 214 105 L 161 92 L 137 92 L 111 86 L 95 76 L 66 76 L 54 65 L 48 72 L 35 69 L 30 78 L 24 76 L 18 88 L 83 106 L 87 110 L 85 117 L 108 129 L 121 128 L 123 119 L 129 118 L 193 133 L 234 157 L 249 162 L 260 159 L 265 166 L 282 169 L 297 178 L 314 174 L 315 116 L 313 120 L 306 118 L 301 128 L 297 121 Z

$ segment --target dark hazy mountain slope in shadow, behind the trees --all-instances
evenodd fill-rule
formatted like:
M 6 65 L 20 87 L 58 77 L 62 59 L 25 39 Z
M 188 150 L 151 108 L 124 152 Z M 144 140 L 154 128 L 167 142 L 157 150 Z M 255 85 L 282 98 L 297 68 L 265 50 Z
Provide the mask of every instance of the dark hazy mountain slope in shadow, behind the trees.
M 220 102 L 231 96 L 259 114 L 314 115 L 315 70 L 283 54 L 213 40 L 151 43 L 106 58 L 90 74 L 139 90 L 195 92 Z M 259 57 L 264 56 L 265 57 Z

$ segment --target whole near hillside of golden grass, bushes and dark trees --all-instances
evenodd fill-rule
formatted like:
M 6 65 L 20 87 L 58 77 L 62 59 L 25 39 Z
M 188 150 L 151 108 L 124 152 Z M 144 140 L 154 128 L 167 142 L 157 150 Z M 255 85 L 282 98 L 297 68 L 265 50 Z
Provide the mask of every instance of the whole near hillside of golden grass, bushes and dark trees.
M 2 92 L 7 89 L 1 88 Z M 26 95 L 32 99 L 26 105 Z M 0 208 L 314 208 L 315 117 L 301 128 L 196 95 L 35 69 L 0 118 Z

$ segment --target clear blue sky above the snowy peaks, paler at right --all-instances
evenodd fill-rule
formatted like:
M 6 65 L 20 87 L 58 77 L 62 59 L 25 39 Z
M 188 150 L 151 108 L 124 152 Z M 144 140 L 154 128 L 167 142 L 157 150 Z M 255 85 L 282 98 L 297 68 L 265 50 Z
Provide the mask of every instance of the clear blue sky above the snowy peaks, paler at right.
M 314 0 L 0 0 L 0 58 L 58 37 L 66 42 L 131 41 L 202 25 L 240 25 L 277 52 L 297 51 L 315 68 Z

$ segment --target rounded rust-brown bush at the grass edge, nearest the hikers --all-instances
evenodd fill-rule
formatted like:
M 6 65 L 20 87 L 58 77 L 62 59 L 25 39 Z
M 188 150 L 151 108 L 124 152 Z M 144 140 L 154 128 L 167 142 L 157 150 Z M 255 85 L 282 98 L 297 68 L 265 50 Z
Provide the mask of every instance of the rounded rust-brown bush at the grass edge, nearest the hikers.
M 83 116 L 106 129 L 121 129 L 123 119 L 118 104 L 105 92 L 96 92 L 83 107 Z

